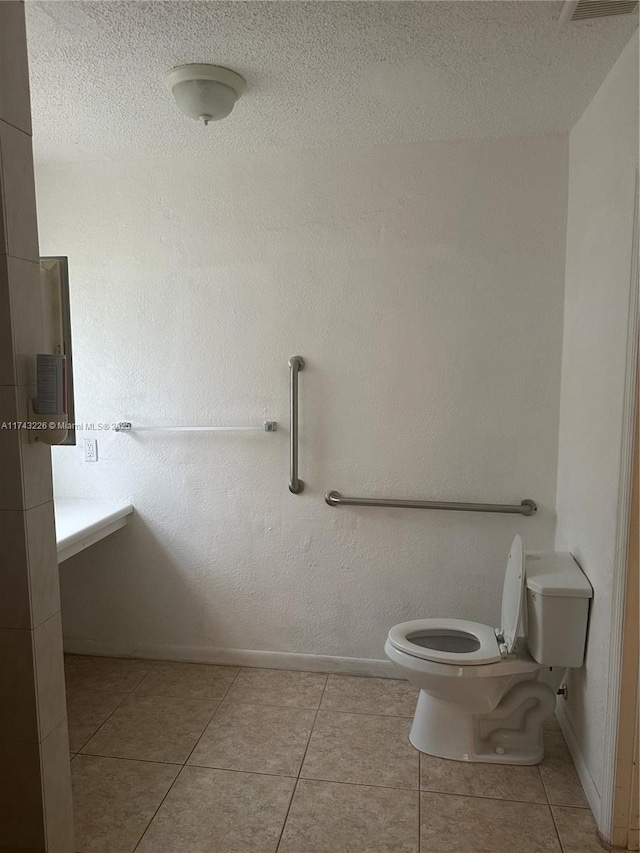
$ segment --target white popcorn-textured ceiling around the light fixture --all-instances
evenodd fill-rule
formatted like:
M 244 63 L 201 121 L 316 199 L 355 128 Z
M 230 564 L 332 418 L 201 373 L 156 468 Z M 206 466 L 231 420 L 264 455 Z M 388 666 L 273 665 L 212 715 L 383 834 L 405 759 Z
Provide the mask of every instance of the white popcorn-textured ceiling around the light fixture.
M 561 3 L 27 2 L 36 159 L 416 144 L 568 130 L 637 16 Z M 208 128 L 162 77 L 212 62 L 247 92 Z

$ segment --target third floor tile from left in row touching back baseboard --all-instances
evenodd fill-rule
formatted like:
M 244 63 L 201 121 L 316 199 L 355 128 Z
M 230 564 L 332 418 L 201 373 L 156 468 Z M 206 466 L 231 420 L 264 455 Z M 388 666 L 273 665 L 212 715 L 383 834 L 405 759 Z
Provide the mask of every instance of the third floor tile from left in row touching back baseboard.
M 233 702 L 318 708 L 327 676 L 281 669 L 242 669 L 227 693 Z

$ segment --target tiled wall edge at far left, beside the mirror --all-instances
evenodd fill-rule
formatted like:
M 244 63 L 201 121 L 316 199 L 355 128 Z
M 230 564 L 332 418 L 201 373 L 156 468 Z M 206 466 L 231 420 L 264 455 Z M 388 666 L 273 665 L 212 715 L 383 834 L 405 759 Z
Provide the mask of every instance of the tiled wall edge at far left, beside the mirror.
M 0 425 L 41 349 L 24 5 L 0 2 Z M 50 450 L 0 429 L 0 851 L 73 851 Z

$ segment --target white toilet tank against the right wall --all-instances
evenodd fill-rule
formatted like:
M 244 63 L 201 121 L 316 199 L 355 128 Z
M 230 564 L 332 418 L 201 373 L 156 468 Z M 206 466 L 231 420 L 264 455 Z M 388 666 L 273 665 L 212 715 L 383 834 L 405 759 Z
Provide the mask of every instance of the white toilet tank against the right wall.
M 567 551 L 531 551 L 525 558 L 527 648 L 545 666 L 580 667 L 591 584 Z

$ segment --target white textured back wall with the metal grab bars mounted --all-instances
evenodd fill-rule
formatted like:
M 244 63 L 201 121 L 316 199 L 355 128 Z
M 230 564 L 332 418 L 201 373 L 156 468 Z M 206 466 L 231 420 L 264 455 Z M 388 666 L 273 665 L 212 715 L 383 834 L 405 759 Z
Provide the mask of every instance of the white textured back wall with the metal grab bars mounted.
M 39 167 L 78 420 L 281 425 L 57 449 L 58 494 L 137 510 L 63 564 L 66 635 L 381 659 L 401 620 L 497 624 L 514 533 L 553 544 L 566 168 L 563 137 Z M 540 512 L 331 509 L 331 488 Z

